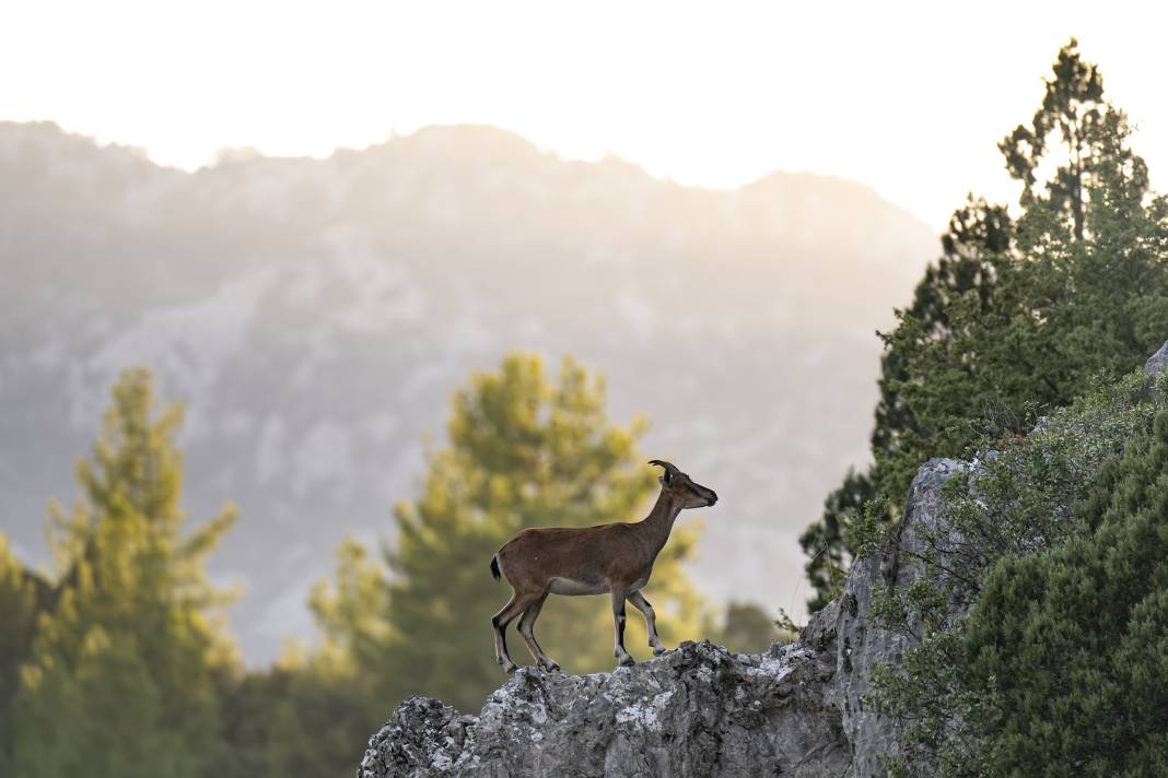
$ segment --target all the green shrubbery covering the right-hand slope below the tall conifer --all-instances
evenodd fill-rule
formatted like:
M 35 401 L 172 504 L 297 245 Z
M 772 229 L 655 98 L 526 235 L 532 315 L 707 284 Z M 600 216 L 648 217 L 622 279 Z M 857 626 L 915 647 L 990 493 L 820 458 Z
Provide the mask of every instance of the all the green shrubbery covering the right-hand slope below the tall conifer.
M 1166 407 L 1129 376 L 946 484 L 922 574 L 874 607 L 919 640 L 874 677 L 908 724 L 894 775 L 1160 775 Z M 894 547 L 871 517 L 860 532 Z

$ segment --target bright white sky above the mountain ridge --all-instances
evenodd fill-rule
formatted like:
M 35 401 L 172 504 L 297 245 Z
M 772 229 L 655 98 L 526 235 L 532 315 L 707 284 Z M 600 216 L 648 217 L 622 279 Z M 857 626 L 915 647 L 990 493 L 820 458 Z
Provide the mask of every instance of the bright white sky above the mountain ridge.
M 996 142 L 1071 35 L 1164 188 L 1156 5 L 0 0 L 0 119 L 190 169 L 488 122 L 683 183 L 847 176 L 940 229 L 966 191 L 1014 191 Z

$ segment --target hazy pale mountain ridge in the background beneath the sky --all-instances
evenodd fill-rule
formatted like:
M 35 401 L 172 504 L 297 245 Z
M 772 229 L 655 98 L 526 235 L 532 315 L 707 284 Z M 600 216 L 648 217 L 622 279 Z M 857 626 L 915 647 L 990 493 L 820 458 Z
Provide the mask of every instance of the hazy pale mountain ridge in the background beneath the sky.
M 246 579 L 236 630 L 270 656 L 341 535 L 390 528 L 467 371 L 531 348 L 605 370 L 646 450 L 725 496 L 701 587 L 779 604 L 795 534 L 864 456 L 872 330 L 934 253 L 853 182 L 687 188 L 491 127 L 187 174 L 0 124 L 0 520 L 42 555 L 111 379 L 148 364 L 189 401 L 192 512 L 243 509 L 213 567 Z

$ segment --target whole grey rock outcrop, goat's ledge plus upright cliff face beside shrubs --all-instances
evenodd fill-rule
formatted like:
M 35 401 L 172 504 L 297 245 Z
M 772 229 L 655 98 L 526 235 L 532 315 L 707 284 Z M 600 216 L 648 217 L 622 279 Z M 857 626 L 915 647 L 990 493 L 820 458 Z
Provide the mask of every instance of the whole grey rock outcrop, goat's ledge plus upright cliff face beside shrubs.
M 884 775 L 880 757 L 898 752 L 899 728 L 865 696 L 872 668 L 899 661 L 908 643 L 869 623 L 872 596 L 917 575 L 918 532 L 938 528 L 940 486 L 966 467 L 920 469 L 898 552 L 853 566 L 798 643 L 764 654 L 683 643 L 583 677 L 526 667 L 477 716 L 411 698 L 370 738 L 357 777 Z

